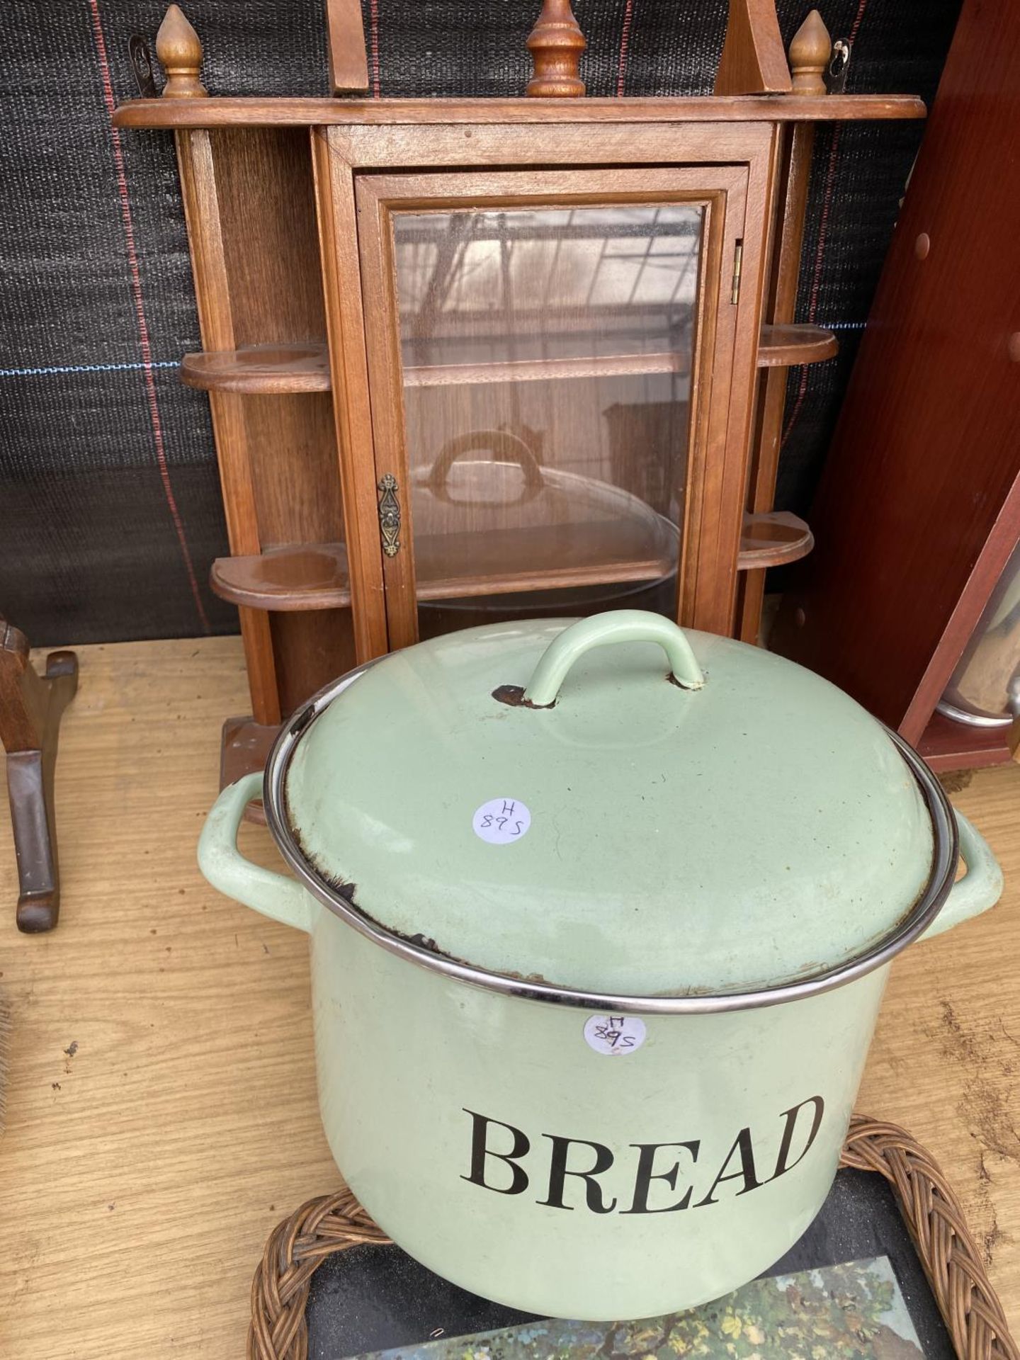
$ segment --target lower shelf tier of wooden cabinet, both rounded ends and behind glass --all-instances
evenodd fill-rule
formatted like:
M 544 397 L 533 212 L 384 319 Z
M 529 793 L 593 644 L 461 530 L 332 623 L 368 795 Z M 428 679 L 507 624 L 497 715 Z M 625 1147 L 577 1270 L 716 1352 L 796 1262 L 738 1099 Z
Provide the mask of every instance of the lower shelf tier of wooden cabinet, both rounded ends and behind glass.
M 622 524 L 619 536 L 631 540 L 631 526 Z M 586 539 L 577 526 L 419 536 L 418 598 L 428 602 L 620 585 L 662 579 L 676 570 L 675 555 L 615 558 L 612 522 L 598 526 L 594 541 Z M 741 571 L 762 571 L 796 562 L 813 543 L 811 529 L 797 515 L 745 515 L 737 564 Z M 526 566 L 507 566 L 514 560 Z M 351 604 L 347 549 L 341 543 L 288 544 L 252 556 L 218 558 L 209 582 L 223 600 L 249 609 L 298 612 Z

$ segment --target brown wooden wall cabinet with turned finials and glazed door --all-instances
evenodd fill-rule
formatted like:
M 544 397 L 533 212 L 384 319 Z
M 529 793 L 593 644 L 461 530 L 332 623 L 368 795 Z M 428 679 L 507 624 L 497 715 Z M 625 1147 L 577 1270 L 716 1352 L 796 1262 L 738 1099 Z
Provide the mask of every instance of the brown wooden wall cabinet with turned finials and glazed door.
M 330 4 L 345 88 L 356 8 Z M 771 499 L 785 370 L 836 348 L 793 324 L 811 124 L 923 106 L 827 97 L 817 15 L 790 76 L 768 0 L 734 0 L 710 98 L 573 98 L 575 30 L 547 0 L 528 98 L 230 99 L 171 7 L 163 98 L 117 110 L 177 135 L 182 375 L 252 681 L 227 777 L 337 673 L 450 628 L 638 605 L 753 641 L 764 568 L 811 548 Z

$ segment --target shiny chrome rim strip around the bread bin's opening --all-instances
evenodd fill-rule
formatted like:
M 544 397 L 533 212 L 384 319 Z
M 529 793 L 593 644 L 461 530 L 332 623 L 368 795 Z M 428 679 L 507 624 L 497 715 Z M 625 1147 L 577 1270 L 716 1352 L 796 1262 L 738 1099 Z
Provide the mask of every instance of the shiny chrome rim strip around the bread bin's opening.
M 934 921 L 952 888 L 959 858 L 959 836 L 949 801 L 921 756 L 898 733 L 887 728 L 889 740 L 899 749 L 921 787 L 921 794 L 932 817 L 936 849 L 928 885 L 914 908 L 887 936 L 850 963 L 775 987 L 766 987 L 758 991 L 724 993 L 710 997 L 622 997 L 608 991 L 579 991 L 573 987 L 558 987 L 547 982 L 525 982 L 502 972 L 490 972 L 486 968 L 476 968 L 468 963 L 457 963 L 445 955 L 432 953 L 422 945 L 411 944 L 401 936 L 393 934 L 385 926 L 363 915 L 350 902 L 339 896 L 306 861 L 284 816 L 284 781 L 298 741 L 309 730 L 313 721 L 373 665 L 375 665 L 375 661 L 369 661 L 363 666 L 358 666 L 355 670 L 341 676 L 340 680 L 326 685 L 325 690 L 314 695 L 284 724 L 265 767 L 262 804 L 265 806 L 265 820 L 283 858 L 307 891 L 322 906 L 328 907 L 333 915 L 358 930 L 367 940 L 420 968 L 428 968 L 457 982 L 483 987 L 487 991 L 496 991 L 505 997 L 543 1001 L 547 1005 L 579 1006 L 586 1010 L 602 1010 L 613 1015 L 673 1016 L 751 1010 L 758 1006 L 775 1006 L 786 1001 L 800 1001 L 802 997 L 813 997 L 821 991 L 831 991 L 834 987 L 840 987 L 843 983 L 854 982 L 857 978 L 864 978 L 876 968 L 881 968 Z

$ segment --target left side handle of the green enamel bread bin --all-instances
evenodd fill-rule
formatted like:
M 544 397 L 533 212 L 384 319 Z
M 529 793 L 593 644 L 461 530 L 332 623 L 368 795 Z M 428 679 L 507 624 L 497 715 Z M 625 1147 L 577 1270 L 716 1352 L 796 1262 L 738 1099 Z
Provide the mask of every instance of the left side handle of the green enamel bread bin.
M 310 932 L 314 906 L 305 889 L 286 874 L 245 860 L 237 832 L 248 804 L 262 792 L 262 774 L 246 774 L 227 785 L 205 819 L 199 838 L 199 868 L 214 888 L 272 921 Z

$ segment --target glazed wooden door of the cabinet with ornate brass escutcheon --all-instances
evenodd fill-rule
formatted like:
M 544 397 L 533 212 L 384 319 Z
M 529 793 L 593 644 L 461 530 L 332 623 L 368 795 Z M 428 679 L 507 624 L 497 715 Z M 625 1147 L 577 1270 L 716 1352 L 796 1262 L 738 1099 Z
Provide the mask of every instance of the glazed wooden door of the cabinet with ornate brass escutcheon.
M 729 631 L 747 181 L 355 177 L 392 647 L 611 608 Z

